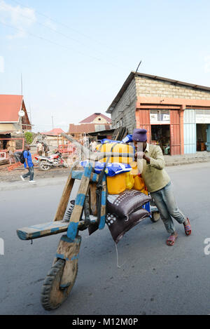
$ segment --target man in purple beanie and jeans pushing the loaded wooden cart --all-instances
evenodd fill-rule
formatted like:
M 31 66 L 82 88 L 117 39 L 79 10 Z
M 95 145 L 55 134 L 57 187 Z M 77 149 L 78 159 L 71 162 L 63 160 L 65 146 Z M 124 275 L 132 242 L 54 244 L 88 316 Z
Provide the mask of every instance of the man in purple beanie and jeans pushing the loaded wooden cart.
M 172 182 L 165 171 L 165 159 L 162 149 L 158 145 L 151 145 L 147 142 L 147 130 L 134 129 L 132 139 L 137 149 L 137 163 L 139 173 L 146 184 L 148 192 L 155 200 L 155 204 L 160 212 L 160 217 L 165 224 L 167 232 L 170 234 L 167 239 L 168 246 L 174 246 L 178 236 L 173 218 L 183 224 L 187 236 L 191 234 L 190 221 L 186 215 L 176 206 L 176 200 L 172 191 Z M 138 150 L 137 150 L 138 151 Z

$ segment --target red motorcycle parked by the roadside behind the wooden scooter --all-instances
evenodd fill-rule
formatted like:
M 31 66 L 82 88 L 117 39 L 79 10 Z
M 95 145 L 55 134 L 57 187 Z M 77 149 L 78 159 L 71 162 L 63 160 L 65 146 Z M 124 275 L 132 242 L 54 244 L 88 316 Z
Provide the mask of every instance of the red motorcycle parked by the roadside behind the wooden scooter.
M 51 156 L 35 156 L 36 161 L 38 161 L 38 166 L 41 170 L 47 171 L 52 167 L 68 167 L 68 164 L 62 158 L 60 152 L 56 152 Z

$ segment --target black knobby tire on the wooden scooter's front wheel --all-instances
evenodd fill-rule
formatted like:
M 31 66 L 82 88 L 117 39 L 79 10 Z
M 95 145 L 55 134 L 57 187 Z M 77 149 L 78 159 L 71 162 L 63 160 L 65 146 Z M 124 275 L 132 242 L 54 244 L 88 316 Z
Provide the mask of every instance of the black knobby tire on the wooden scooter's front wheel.
M 41 304 L 46 311 L 52 311 L 57 309 L 69 296 L 73 284 L 76 281 L 78 272 L 78 263 L 76 263 L 76 269 L 74 271 L 73 281 L 67 288 L 59 288 L 59 283 L 62 278 L 62 272 L 64 269 L 65 260 L 57 260 L 57 262 L 51 267 L 48 275 L 45 277 L 45 281 L 41 290 Z

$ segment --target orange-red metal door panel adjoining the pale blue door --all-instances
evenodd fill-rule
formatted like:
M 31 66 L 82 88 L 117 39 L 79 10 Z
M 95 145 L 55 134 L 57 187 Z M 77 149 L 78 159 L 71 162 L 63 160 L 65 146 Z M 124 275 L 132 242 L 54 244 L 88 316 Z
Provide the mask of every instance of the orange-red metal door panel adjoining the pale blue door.
M 179 110 L 170 111 L 171 155 L 181 154 L 180 114 Z

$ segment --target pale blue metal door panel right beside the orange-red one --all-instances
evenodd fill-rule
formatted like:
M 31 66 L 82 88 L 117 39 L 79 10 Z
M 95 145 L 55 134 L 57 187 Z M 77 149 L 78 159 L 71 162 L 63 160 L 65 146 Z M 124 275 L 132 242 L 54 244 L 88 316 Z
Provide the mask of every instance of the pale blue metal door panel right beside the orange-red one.
M 183 115 L 184 154 L 196 153 L 195 109 L 186 109 Z

